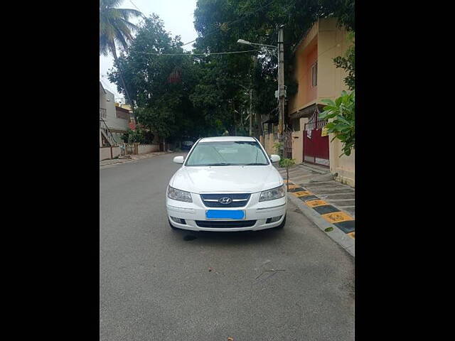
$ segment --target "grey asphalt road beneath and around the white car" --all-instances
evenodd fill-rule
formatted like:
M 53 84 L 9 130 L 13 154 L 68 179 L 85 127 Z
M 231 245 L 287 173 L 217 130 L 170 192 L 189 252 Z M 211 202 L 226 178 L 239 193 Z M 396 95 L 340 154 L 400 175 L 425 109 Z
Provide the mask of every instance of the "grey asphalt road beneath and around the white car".
M 176 155 L 100 169 L 100 340 L 354 340 L 353 258 L 291 202 L 281 231 L 173 231 Z

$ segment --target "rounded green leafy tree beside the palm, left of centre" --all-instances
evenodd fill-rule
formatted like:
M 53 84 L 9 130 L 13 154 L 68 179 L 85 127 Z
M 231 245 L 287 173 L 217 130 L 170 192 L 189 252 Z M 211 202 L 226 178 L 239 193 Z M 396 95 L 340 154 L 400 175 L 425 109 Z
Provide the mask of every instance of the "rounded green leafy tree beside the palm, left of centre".
M 137 104 L 138 122 L 171 140 L 200 134 L 204 122 L 189 99 L 198 82 L 198 63 L 181 45 L 179 36 L 172 38 L 164 30 L 159 16 L 150 16 L 139 26 L 128 54 L 109 72 L 120 90 L 123 75 Z

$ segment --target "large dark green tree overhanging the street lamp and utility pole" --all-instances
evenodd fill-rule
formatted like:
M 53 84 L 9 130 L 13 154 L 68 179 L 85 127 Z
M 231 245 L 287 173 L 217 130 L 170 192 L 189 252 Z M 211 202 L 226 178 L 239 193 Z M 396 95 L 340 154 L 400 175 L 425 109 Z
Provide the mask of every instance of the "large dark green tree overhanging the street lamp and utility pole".
M 252 46 L 240 45 L 239 38 L 267 45 L 277 44 L 277 25 L 284 24 L 285 80 L 288 97 L 296 93 L 291 59 L 292 48 L 299 43 L 304 33 L 318 18 L 336 16 L 339 25 L 353 29 L 353 0 L 198 0 L 194 13 L 198 32 L 196 51 L 221 52 L 228 50 L 252 50 Z M 252 63 L 253 53 L 209 56 L 203 63 L 210 63 L 212 72 L 205 75 L 200 92 L 212 90 L 222 103 L 231 103 L 211 108 L 220 117 L 228 114 L 230 124 L 237 112 L 248 112 L 248 96 L 243 87 L 253 87 L 253 110 L 261 114 L 277 114 L 277 57 L 273 50 L 262 48 L 257 63 Z M 220 77 L 225 77 L 221 82 Z M 251 82 L 252 81 L 252 82 Z M 221 85 L 223 86 L 215 86 Z M 243 87 L 242 87 L 243 86 Z M 227 117 L 225 117 L 227 119 Z M 238 119 L 237 119 L 238 121 Z M 257 119 L 259 121 L 259 119 Z M 258 122 L 259 123 L 259 122 Z M 228 124 L 224 122 L 223 124 Z M 259 127 L 259 126 L 258 126 Z

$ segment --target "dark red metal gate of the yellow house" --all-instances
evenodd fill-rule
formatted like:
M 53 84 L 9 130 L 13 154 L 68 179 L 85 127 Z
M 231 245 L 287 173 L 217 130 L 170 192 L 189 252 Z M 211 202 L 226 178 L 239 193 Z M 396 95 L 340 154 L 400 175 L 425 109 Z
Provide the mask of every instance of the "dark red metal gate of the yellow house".
M 314 112 L 304 129 L 304 162 L 320 166 L 330 166 L 328 153 L 328 136 L 321 136 L 327 121 L 319 119 Z

